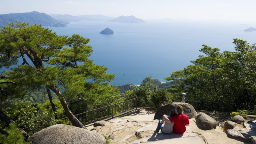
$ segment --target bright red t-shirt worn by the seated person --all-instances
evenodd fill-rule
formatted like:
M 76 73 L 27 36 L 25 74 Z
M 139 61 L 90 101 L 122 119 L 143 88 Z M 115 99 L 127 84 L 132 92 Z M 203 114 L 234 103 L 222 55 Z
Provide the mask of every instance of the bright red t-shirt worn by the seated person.
M 176 134 L 182 134 L 186 131 L 186 125 L 189 124 L 188 116 L 185 114 L 178 114 L 169 118 L 173 123 L 173 132 Z

